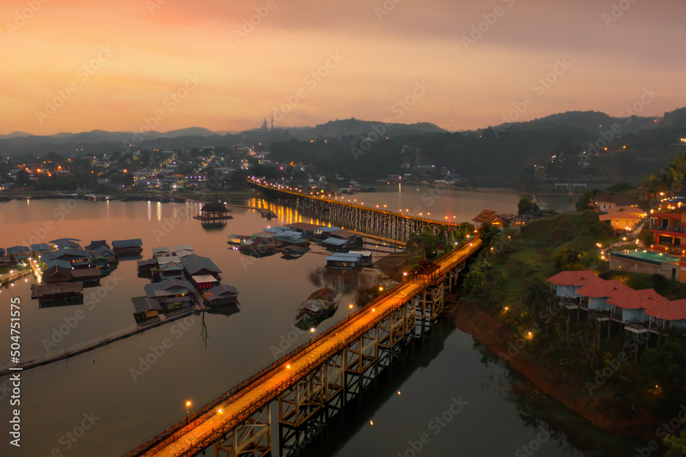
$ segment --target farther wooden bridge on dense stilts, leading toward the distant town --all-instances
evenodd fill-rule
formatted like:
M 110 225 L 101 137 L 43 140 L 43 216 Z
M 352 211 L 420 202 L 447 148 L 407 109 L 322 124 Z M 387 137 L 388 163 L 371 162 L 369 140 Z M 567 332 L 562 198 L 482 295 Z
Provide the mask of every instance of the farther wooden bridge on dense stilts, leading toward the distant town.
M 436 235 L 440 226 L 445 226 L 447 232 L 460 228 L 460 224 L 448 220 L 421 218 L 365 207 L 361 204 L 305 195 L 292 189 L 265 185 L 257 180 L 250 180 L 248 183 L 266 196 L 279 200 L 281 204 L 296 207 L 309 215 L 331 221 L 332 224 L 350 226 L 355 230 L 382 237 L 404 241 L 410 233 L 421 233 L 427 228 Z

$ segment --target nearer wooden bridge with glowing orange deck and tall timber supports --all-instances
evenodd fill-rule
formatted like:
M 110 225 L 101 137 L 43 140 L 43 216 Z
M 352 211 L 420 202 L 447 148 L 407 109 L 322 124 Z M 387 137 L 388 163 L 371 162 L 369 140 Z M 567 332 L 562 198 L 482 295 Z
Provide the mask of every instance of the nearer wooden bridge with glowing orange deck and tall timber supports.
M 444 292 L 481 244 L 476 238 L 447 253 L 430 275 L 387 290 L 125 457 L 195 456 L 211 447 L 215 457 L 269 455 L 274 401 L 280 445 L 292 445 L 303 430 L 330 421 L 364 392 L 403 342 L 429 329 L 443 310 Z

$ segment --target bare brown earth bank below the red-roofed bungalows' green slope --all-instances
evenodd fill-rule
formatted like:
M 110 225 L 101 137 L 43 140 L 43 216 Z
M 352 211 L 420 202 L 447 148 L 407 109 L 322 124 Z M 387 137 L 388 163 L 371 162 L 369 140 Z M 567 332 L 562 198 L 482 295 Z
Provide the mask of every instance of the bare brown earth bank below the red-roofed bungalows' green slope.
M 657 439 L 655 430 L 665 419 L 644 410 L 631 410 L 598 395 L 582 395 L 584 382 L 588 379 L 571 371 L 554 366 L 544 366 L 528 357 L 524 351 L 508 354 L 514 335 L 506 325 L 493 318 L 477 305 L 458 301 L 455 295 L 447 297 L 446 309 L 456 327 L 469 333 L 493 353 L 507 355 L 506 364 L 529 379 L 536 388 L 591 422 L 613 434 L 632 436 L 646 441 Z

